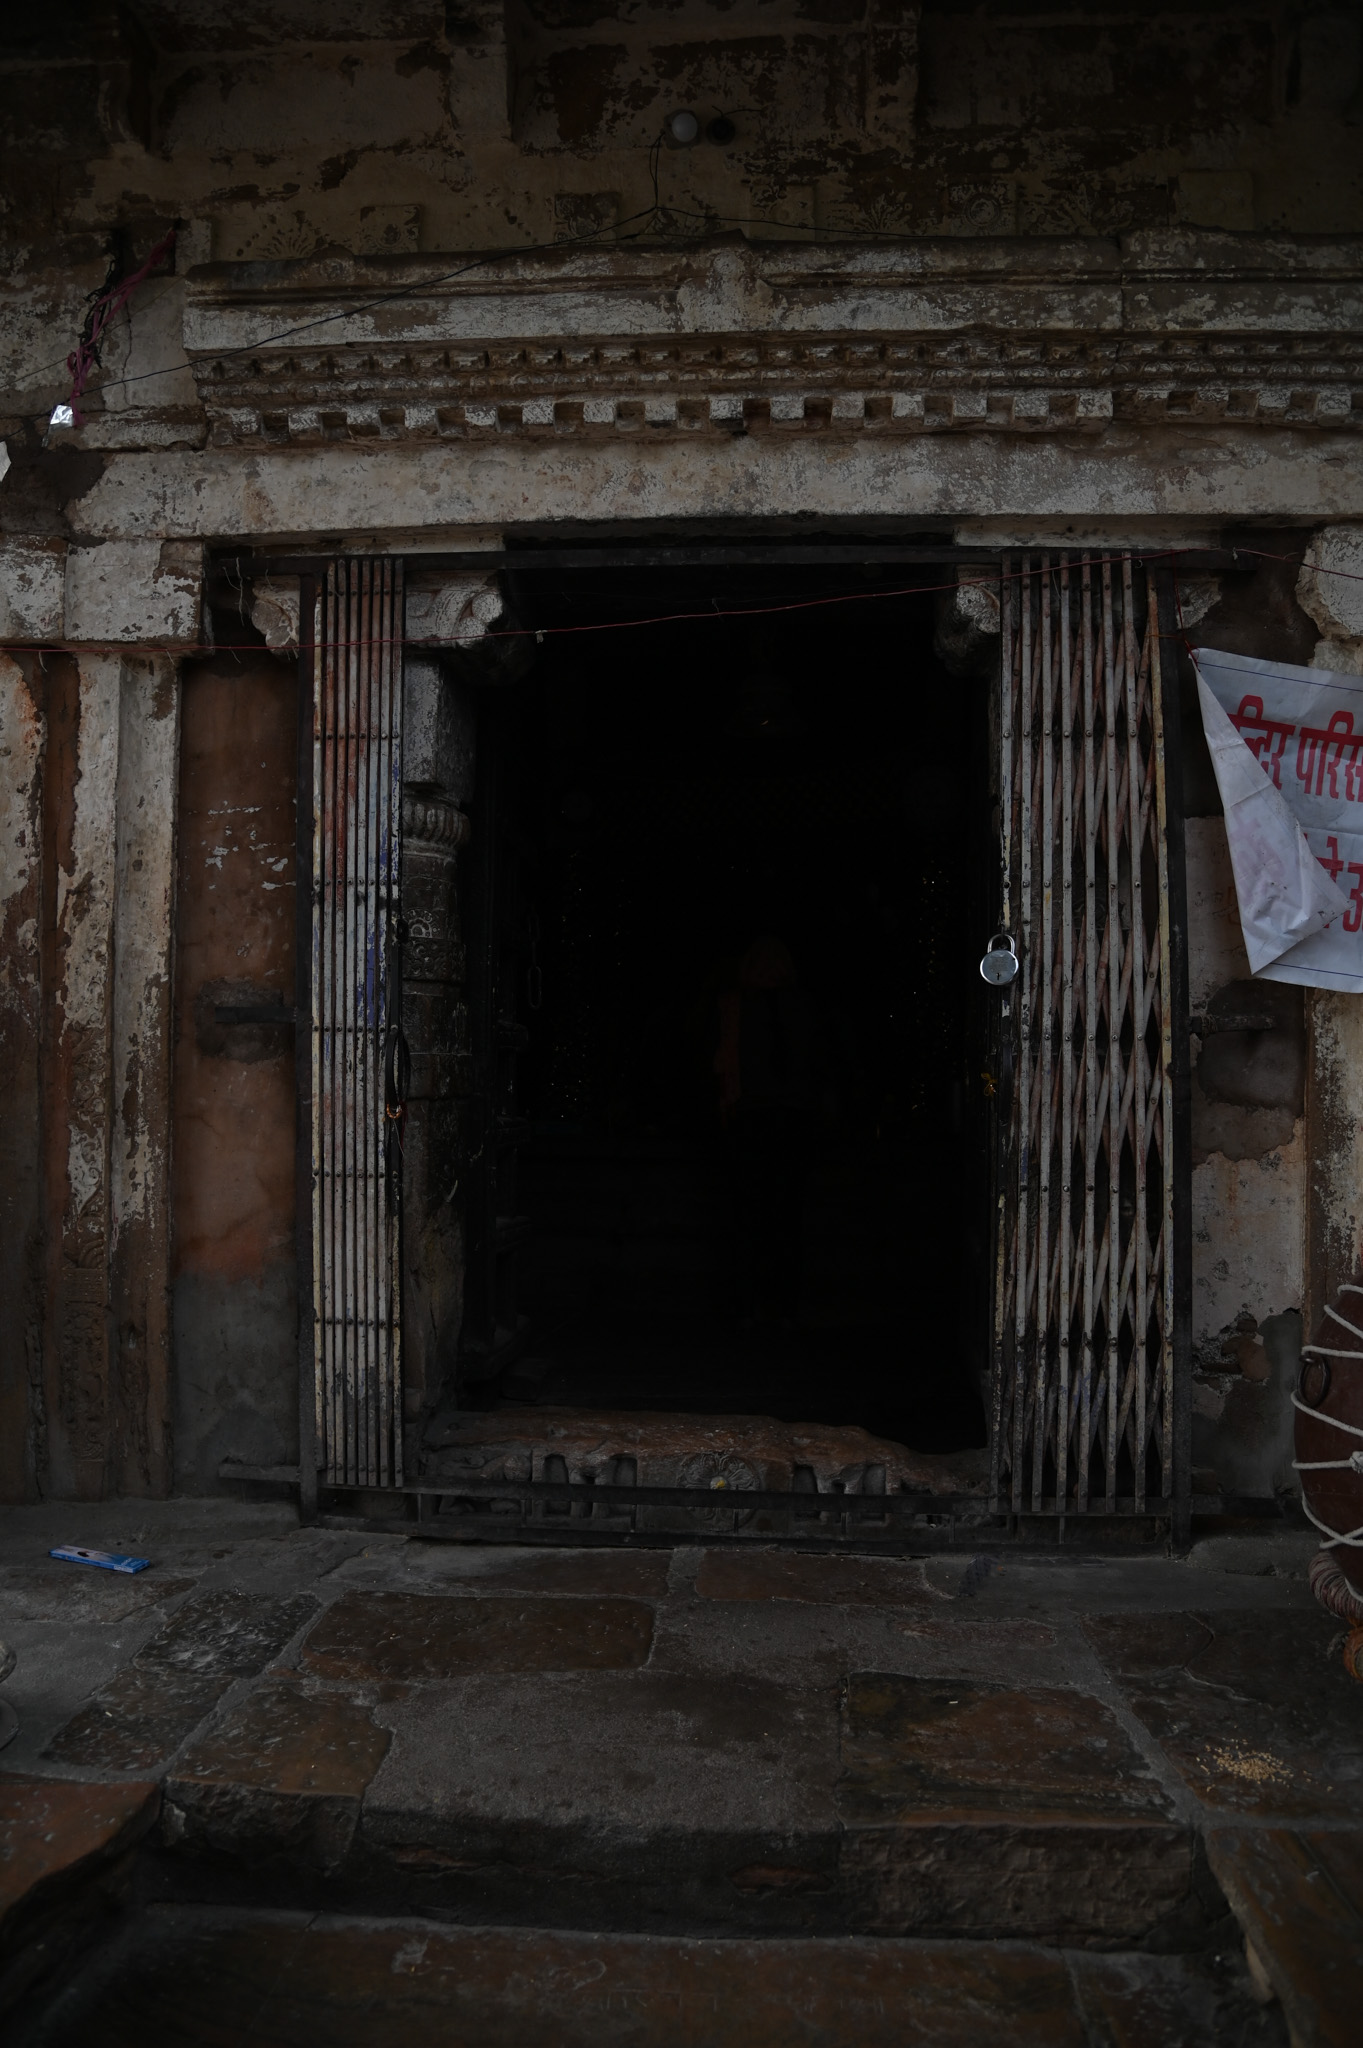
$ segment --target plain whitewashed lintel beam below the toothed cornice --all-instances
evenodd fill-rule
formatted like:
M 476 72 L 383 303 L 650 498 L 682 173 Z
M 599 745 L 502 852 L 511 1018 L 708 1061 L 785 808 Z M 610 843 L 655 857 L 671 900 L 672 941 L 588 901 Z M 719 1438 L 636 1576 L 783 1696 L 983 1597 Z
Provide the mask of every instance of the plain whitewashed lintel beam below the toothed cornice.
M 440 449 L 338 451 L 325 465 L 327 524 L 385 541 L 460 526 L 518 524 L 526 510 L 542 522 L 581 520 L 741 520 L 741 518 L 917 518 L 950 520 L 966 504 L 988 502 L 1015 518 L 1101 520 L 1146 512 L 1160 520 L 1160 498 L 1185 518 L 1320 516 L 1322 496 L 1338 487 L 1338 510 L 1359 500 L 1357 449 L 1320 440 L 1265 451 L 1234 434 L 1183 436 L 1140 444 L 1111 436 L 1083 444 L 1005 446 L 976 440 L 948 446 L 829 442 L 784 444 L 733 438 L 718 446 L 579 449 L 489 446 L 450 457 Z M 1152 444 L 1154 442 L 1154 444 Z M 1130 467 L 1124 463 L 1130 457 Z M 1332 457 L 1338 463 L 1332 465 Z M 86 532 L 223 537 L 301 537 L 317 530 L 317 459 L 297 455 L 119 455 L 80 500 Z M 1160 496 L 1156 496 L 1156 477 Z M 1167 514 L 1164 514 L 1167 520 Z M 434 528 L 434 535 L 430 532 Z M 1158 535 L 1160 526 L 1154 524 Z

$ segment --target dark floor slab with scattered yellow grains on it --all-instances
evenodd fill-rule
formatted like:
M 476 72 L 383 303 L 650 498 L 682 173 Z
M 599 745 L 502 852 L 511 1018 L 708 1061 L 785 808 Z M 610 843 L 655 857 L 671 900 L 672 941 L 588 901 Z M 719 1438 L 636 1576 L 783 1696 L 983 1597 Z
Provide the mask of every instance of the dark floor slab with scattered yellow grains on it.
M 1210 1806 L 1363 1821 L 1363 1694 L 1320 1608 L 1091 1616 L 1085 1632 Z

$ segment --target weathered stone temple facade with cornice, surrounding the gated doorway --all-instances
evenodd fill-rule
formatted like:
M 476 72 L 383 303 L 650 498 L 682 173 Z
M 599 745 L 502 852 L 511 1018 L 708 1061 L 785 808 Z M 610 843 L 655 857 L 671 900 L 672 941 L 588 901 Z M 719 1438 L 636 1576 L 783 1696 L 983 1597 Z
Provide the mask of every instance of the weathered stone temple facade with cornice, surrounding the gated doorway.
M 1359 18 L 57 0 L 0 47 L 0 1489 L 199 1489 L 221 1456 L 295 1454 L 293 1055 L 201 1014 L 211 985 L 291 987 L 293 684 L 264 649 L 184 670 L 205 549 L 761 522 L 1230 530 L 1353 561 Z M 677 109 L 690 147 L 661 139 Z M 49 428 L 111 246 L 127 270 L 172 221 L 86 424 Z M 434 252 L 458 250 L 491 260 L 450 279 Z M 1293 575 L 1191 592 L 1193 639 L 1361 666 L 1353 586 Z M 287 594 L 239 625 L 287 651 Z M 1197 774 L 1207 1010 L 1246 967 Z M 260 801 L 264 840 L 213 838 L 215 788 Z M 460 803 L 440 766 L 409 795 Z M 413 852 L 432 915 L 450 848 Z M 229 866 L 241 891 L 211 901 Z M 440 1008 L 458 977 L 428 967 L 413 1004 Z M 1199 1049 L 1199 1454 L 1224 1485 L 1281 1477 L 1293 1319 L 1357 1255 L 1355 1008 L 1283 1010 L 1267 1061 Z M 413 1114 L 415 1180 L 450 1116 Z M 444 1274 L 446 1192 L 420 1200 Z M 422 1399 L 458 1311 L 432 1288 Z

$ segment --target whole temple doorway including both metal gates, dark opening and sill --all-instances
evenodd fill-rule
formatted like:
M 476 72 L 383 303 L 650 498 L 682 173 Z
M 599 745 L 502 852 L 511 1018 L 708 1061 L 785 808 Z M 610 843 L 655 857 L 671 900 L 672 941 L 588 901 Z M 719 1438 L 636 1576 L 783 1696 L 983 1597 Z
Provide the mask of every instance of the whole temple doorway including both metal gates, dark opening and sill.
M 995 1513 L 1177 1520 L 1158 580 L 993 557 L 970 631 L 950 549 L 448 567 L 401 707 L 372 567 L 303 635 L 321 1487 L 778 1534 L 978 1511 L 988 1442 Z

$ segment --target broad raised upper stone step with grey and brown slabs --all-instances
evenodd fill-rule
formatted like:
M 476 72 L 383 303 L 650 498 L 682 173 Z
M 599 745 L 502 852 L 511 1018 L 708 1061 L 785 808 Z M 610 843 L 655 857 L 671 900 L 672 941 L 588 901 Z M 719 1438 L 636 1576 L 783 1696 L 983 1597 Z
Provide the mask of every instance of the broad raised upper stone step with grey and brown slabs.
M 1187 1946 L 1222 1909 L 1089 1692 L 653 1649 L 632 1595 L 350 1589 L 170 1765 L 164 1833 L 319 1898 L 639 1933 Z

